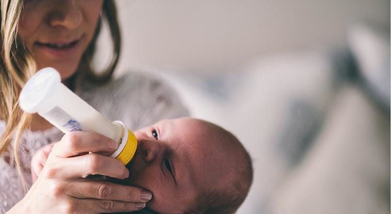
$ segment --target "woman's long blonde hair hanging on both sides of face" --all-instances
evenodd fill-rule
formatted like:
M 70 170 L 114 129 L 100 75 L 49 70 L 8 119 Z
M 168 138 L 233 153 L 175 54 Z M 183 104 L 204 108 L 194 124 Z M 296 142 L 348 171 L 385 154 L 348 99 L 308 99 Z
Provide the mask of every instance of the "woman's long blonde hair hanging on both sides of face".
M 6 123 L 5 130 L 0 138 L 0 154 L 14 141 L 12 150 L 15 156 L 16 168 L 23 186 L 26 187 L 18 158 L 18 145 L 23 131 L 30 126 L 32 117 L 19 108 L 18 95 L 26 81 L 36 72 L 36 64 L 32 54 L 17 35 L 24 0 L 1 0 L 0 2 L 0 117 Z M 114 54 L 108 67 L 97 75 L 92 65 L 92 59 L 102 21 L 107 21 L 110 27 Z M 81 57 L 77 72 L 70 77 L 70 85 L 74 85 L 74 82 L 81 78 L 96 83 L 104 83 L 110 80 L 119 58 L 120 46 L 121 38 L 114 0 L 104 0 L 102 15 L 98 21 L 95 35 Z

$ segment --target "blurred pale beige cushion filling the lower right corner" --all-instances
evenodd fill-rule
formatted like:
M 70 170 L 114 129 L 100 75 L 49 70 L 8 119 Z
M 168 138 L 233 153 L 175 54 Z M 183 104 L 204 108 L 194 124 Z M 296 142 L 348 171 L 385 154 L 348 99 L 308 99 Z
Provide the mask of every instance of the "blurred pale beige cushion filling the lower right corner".
M 390 120 L 345 86 L 302 164 L 274 192 L 271 214 L 389 214 Z

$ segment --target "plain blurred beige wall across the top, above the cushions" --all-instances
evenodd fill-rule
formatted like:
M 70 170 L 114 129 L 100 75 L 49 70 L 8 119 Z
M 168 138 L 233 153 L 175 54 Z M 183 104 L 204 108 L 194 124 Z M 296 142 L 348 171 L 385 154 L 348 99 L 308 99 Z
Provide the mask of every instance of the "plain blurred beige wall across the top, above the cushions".
M 356 22 L 390 26 L 390 0 L 118 0 L 118 70 L 237 70 L 254 57 L 341 46 Z

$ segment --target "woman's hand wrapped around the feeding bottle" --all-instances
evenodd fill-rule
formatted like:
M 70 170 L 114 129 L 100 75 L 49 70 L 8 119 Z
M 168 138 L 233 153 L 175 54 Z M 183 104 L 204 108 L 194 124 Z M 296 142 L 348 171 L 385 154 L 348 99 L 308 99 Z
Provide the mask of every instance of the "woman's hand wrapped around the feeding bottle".
M 141 188 L 83 179 L 94 174 L 127 178 L 129 170 L 122 162 L 97 154 L 112 152 L 115 147 L 112 139 L 96 133 L 66 134 L 52 145 L 38 179 L 10 213 L 95 214 L 144 208 L 152 195 Z

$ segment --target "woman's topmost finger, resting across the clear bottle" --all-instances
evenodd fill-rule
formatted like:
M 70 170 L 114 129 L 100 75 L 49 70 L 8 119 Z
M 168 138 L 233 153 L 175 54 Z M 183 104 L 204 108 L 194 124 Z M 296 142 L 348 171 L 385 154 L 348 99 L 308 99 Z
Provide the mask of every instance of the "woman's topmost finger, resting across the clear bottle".
M 117 143 L 106 136 L 76 131 L 66 135 L 52 148 L 52 153 L 58 157 L 72 157 L 87 152 L 113 152 Z

